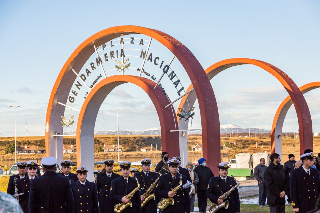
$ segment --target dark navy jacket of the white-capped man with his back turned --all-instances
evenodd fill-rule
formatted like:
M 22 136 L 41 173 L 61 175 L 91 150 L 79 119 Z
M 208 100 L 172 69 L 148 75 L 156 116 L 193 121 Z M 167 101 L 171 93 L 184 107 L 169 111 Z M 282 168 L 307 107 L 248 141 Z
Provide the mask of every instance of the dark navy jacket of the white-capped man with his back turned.
M 73 212 L 74 199 L 68 178 L 46 171 L 31 181 L 29 212 Z

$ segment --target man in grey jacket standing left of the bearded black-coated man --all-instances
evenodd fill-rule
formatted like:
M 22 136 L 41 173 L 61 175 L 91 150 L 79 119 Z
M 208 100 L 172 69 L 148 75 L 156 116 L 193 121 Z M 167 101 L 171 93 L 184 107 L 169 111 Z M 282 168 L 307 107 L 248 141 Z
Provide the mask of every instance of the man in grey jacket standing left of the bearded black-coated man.
M 259 205 L 260 207 L 267 207 L 267 187 L 266 181 L 264 179 L 264 171 L 268 168 L 266 165 L 266 160 L 264 158 L 260 159 L 260 164 L 254 168 L 254 178 L 258 181 L 259 185 Z

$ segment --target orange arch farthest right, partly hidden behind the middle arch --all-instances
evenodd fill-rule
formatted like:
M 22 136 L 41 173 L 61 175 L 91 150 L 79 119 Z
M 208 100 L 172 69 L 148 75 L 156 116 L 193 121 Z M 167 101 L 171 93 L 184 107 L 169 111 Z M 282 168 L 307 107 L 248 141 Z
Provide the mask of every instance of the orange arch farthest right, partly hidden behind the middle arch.
M 319 87 L 320 87 L 320 82 L 311 82 L 311 83 L 307 83 L 307 84 L 299 87 L 299 89 L 302 92 L 302 94 L 305 94 L 306 92 L 314 90 Z M 277 109 L 276 115 L 273 119 L 272 129 L 271 129 L 271 153 L 275 153 L 275 141 L 276 140 L 279 140 L 279 143 L 281 144 L 282 127 L 283 127 L 284 118 L 285 118 L 291 105 L 292 105 L 292 99 L 290 96 L 288 96 L 281 102 L 280 106 Z M 311 122 L 311 120 L 310 120 L 310 122 Z M 300 128 L 299 128 L 299 130 L 300 130 Z M 276 134 L 276 132 L 278 132 L 278 133 Z M 278 134 L 280 134 L 281 137 L 278 138 L 277 137 Z M 310 148 L 310 149 L 312 149 L 312 148 Z M 300 148 L 300 154 L 303 154 L 304 150 L 305 149 L 301 150 L 301 148 Z

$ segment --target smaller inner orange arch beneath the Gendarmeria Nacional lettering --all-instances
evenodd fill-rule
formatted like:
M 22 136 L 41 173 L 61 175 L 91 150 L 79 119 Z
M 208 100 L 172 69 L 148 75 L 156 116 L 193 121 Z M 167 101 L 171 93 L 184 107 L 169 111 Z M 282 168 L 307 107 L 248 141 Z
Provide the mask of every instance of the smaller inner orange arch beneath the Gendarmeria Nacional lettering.
M 86 166 L 87 169 L 93 172 L 93 133 L 96 117 L 100 106 L 107 95 L 116 86 L 123 83 L 134 83 L 142 88 L 152 100 L 156 107 L 156 112 L 159 116 L 162 136 L 162 150 L 170 152 L 172 156 L 178 156 L 179 153 L 179 133 L 170 132 L 176 129 L 178 125 L 176 116 L 174 115 L 173 106 L 164 108 L 170 103 L 170 100 L 165 96 L 160 87 L 155 86 L 155 82 L 147 78 L 138 78 L 131 75 L 114 75 L 102 79 L 96 84 L 92 91 L 85 99 L 81 111 L 79 113 L 76 141 L 77 141 L 77 165 Z M 141 156 L 141 159 L 144 158 Z M 153 162 L 156 164 L 157 162 Z M 93 174 L 89 172 L 88 179 L 93 180 Z

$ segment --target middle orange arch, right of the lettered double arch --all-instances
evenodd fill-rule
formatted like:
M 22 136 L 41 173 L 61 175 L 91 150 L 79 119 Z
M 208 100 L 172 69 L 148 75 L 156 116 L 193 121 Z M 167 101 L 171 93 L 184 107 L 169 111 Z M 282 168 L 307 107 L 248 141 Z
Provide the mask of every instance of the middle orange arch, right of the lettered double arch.
M 299 130 L 300 130 L 300 153 L 303 154 L 303 151 L 305 149 L 312 149 L 313 147 L 312 122 L 311 122 L 311 116 L 310 116 L 308 105 L 298 86 L 282 70 L 264 61 L 260 61 L 256 59 L 247 59 L 247 58 L 234 58 L 234 59 L 225 59 L 211 65 L 205 70 L 205 73 L 208 75 L 209 80 L 211 80 L 215 75 L 217 75 L 221 71 L 229 67 L 234 67 L 234 66 L 243 65 L 243 64 L 252 64 L 264 69 L 271 75 L 275 76 L 276 79 L 284 86 L 285 90 L 289 93 L 289 97 L 292 100 L 292 103 L 296 109 L 296 113 L 298 116 L 298 123 L 299 123 Z M 187 92 L 190 91 L 192 88 L 193 88 L 193 85 L 191 84 L 188 87 Z M 187 109 L 190 106 L 193 106 L 195 101 L 196 101 L 196 96 L 194 95 L 194 91 L 191 91 L 190 93 L 188 93 L 188 95 L 183 97 L 179 108 L 183 107 L 184 109 Z M 177 114 L 178 113 L 180 112 L 177 111 Z M 178 121 L 178 122 L 180 123 L 181 121 Z M 219 129 L 219 133 L 220 133 L 220 129 Z

